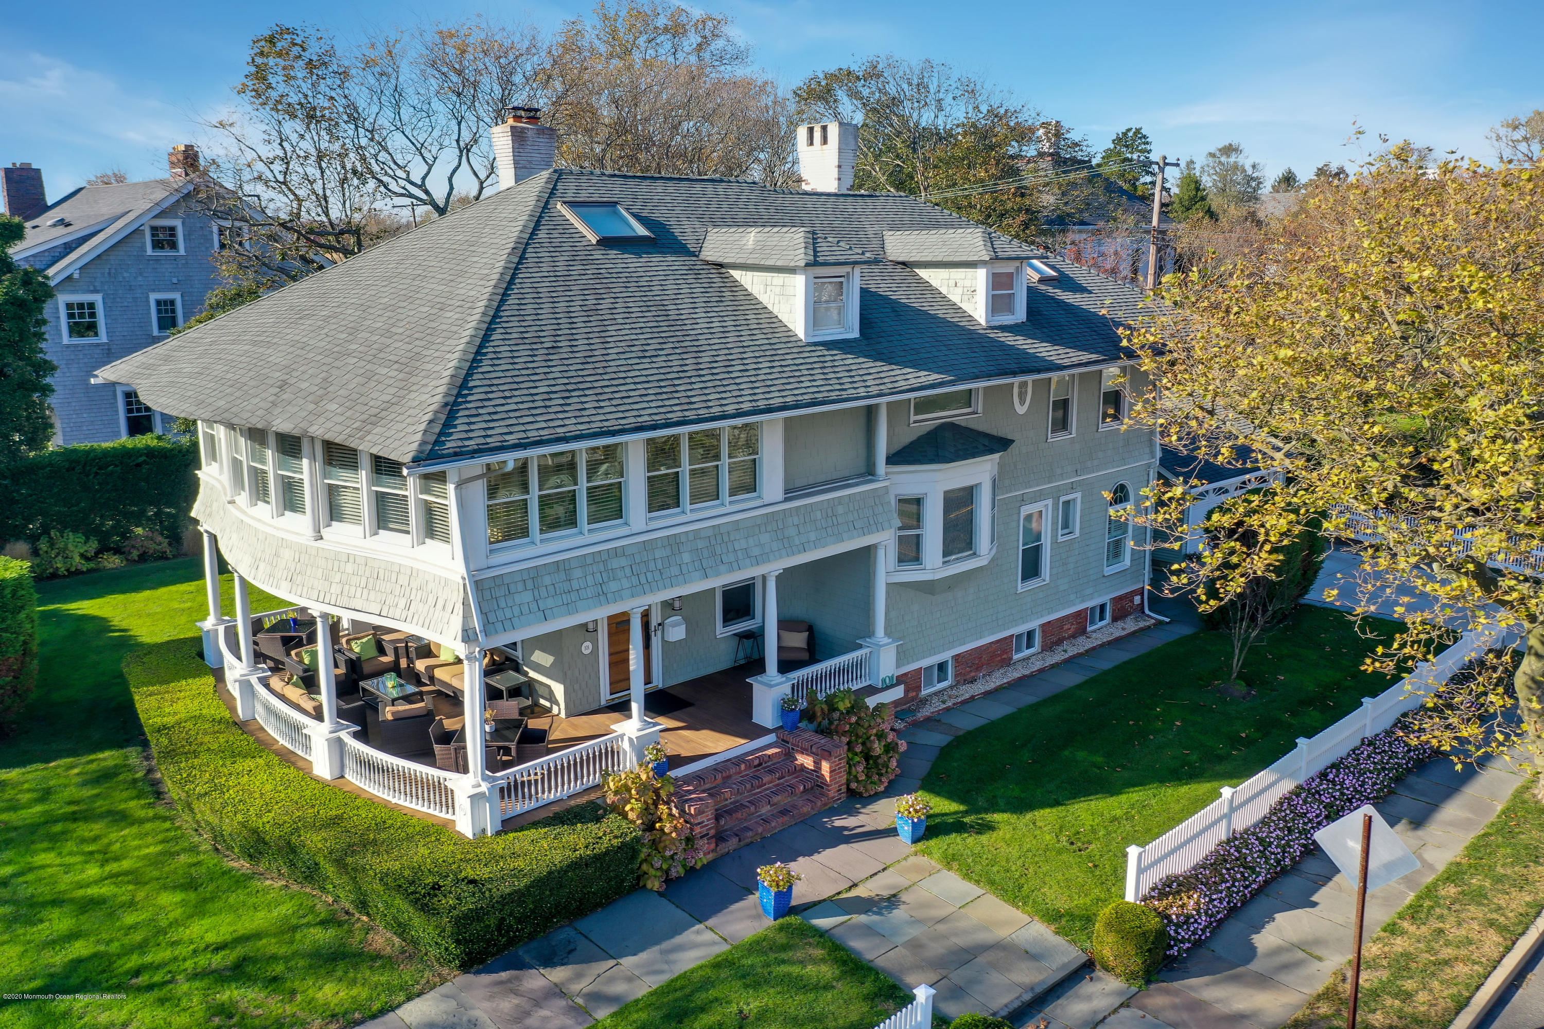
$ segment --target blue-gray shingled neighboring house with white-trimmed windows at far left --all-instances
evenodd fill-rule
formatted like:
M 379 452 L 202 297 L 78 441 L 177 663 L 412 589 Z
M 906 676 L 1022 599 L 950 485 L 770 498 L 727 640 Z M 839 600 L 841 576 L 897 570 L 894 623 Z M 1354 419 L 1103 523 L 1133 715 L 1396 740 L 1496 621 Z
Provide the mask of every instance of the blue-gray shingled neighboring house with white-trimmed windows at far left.
M 199 171 L 190 143 L 170 154 L 170 176 L 88 185 L 48 204 L 43 173 L 0 168 L 6 213 L 26 222 L 12 251 L 42 268 L 59 298 L 48 307 L 56 441 L 105 443 L 165 430 L 131 387 L 97 381 L 96 369 L 144 350 L 204 310 L 219 282 L 210 261 L 216 224 L 188 202 Z

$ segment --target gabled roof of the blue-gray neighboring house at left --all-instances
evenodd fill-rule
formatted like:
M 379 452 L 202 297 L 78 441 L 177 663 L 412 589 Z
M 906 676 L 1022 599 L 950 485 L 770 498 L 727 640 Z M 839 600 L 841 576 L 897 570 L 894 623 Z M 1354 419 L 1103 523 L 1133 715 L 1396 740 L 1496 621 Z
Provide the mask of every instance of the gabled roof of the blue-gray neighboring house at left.
M 164 211 L 191 185 L 191 179 L 83 185 L 28 219 L 26 236 L 11 256 L 57 279 Z

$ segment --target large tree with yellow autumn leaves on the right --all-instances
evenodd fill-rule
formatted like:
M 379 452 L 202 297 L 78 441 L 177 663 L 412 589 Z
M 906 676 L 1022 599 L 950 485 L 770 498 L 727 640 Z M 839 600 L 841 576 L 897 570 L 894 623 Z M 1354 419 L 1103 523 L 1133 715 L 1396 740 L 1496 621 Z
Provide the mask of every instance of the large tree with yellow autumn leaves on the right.
M 1431 657 L 1454 619 L 1522 636 L 1521 665 L 1478 662 L 1417 731 L 1453 754 L 1521 747 L 1539 768 L 1544 170 L 1433 167 L 1396 145 L 1356 185 L 1312 191 L 1226 275 L 1170 282 L 1130 333 L 1156 384 L 1133 418 L 1223 464 L 1246 446 L 1282 472 L 1212 515 L 1238 545 L 1198 557 L 1207 603 L 1274 574 L 1272 554 L 1323 512 L 1320 534 L 1368 540 L 1357 611 L 1394 583 L 1405 628 L 1370 671 Z M 1169 492 L 1152 488 L 1143 518 L 1175 531 Z

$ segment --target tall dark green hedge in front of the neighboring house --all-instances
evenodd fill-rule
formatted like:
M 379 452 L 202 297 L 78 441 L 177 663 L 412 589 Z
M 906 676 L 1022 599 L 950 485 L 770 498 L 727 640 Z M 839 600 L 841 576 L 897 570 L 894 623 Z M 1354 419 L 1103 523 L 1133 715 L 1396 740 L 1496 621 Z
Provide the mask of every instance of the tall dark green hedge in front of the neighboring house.
M 0 466 L 0 543 L 77 532 L 120 551 L 134 529 L 176 545 L 198 494 L 198 444 L 159 435 L 82 443 Z

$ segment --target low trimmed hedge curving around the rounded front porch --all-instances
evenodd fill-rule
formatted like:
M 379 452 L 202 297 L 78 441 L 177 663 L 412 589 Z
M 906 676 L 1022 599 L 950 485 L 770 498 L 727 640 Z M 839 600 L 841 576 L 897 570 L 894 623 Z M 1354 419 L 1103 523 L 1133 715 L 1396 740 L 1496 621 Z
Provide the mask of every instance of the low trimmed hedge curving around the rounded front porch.
M 471 967 L 638 889 L 639 835 L 598 804 L 465 839 L 312 779 L 252 739 L 188 640 L 124 660 L 167 791 L 218 847 Z

